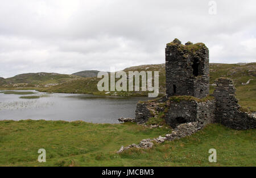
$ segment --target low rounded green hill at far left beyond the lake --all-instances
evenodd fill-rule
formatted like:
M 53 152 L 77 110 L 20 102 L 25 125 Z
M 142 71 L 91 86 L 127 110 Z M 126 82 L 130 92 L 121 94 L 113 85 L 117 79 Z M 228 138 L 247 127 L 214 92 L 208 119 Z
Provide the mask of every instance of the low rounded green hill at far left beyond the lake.
M 59 73 L 24 73 L 18 74 L 14 77 L 0 79 L 0 85 L 13 86 L 13 87 L 35 87 L 35 86 L 52 86 L 61 84 L 65 81 L 80 78 L 70 74 Z M 1 82 L 2 81 L 2 82 Z

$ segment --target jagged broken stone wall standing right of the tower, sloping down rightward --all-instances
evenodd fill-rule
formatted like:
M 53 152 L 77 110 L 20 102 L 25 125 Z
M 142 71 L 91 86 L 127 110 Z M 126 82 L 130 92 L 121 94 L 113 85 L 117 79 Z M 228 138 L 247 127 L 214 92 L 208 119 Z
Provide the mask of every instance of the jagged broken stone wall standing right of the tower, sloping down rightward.
M 238 105 L 234 82 L 229 78 L 218 78 L 215 82 L 216 122 L 238 130 L 255 128 L 255 117 L 241 111 L 241 106 Z

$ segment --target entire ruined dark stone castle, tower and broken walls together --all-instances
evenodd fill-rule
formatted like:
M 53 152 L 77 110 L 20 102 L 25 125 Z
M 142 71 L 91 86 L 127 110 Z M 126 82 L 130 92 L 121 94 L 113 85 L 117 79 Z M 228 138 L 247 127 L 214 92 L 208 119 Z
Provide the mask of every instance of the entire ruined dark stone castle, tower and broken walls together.
M 214 122 L 238 130 L 255 128 L 255 117 L 241 109 L 235 92 L 232 80 L 218 78 L 209 95 L 208 48 L 175 39 L 166 45 L 166 96 L 138 102 L 135 121 L 146 123 L 161 115 L 172 128 L 190 122 L 201 128 Z

